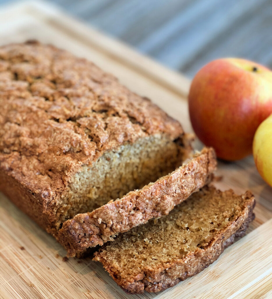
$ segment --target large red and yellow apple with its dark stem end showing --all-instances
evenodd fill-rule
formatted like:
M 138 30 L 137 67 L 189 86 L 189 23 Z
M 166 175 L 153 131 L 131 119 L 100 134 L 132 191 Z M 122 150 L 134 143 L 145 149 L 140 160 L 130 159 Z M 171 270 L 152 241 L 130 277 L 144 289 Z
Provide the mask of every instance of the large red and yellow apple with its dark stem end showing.
M 194 77 L 188 100 L 197 137 L 218 158 L 239 160 L 252 153 L 254 133 L 272 113 L 272 72 L 245 59 L 214 60 Z

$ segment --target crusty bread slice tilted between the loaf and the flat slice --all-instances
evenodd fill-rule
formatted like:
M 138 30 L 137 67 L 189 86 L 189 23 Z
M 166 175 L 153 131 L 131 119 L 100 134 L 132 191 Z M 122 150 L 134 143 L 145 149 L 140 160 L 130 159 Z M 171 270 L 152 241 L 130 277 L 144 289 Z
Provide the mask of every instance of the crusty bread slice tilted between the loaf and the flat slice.
M 210 182 L 216 164 L 214 150 L 204 148 L 186 164 L 155 183 L 67 220 L 58 233 L 58 240 L 69 256 L 112 241 L 120 232 L 168 214 L 192 192 Z

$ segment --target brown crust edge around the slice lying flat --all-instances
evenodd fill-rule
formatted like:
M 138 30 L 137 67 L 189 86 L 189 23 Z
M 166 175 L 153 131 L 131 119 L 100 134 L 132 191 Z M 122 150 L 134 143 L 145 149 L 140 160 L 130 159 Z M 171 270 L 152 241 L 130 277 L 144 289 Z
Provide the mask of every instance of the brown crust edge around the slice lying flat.
M 232 190 L 226 192 L 234 194 Z M 243 209 L 240 210 L 240 207 L 237 207 L 239 217 L 230 221 L 220 233 L 215 234 L 207 246 L 197 248 L 195 251 L 186 254 L 182 259 L 172 259 L 171 262 L 162 263 L 161 266 L 154 269 L 147 264 L 142 270 L 137 268 L 135 276 L 122 276 L 118 268 L 105 259 L 103 248 L 95 253 L 94 260 L 100 261 L 112 278 L 128 294 L 142 293 L 144 291 L 163 291 L 208 267 L 217 260 L 224 249 L 231 245 L 235 239 L 245 235 L 249 223 L 254 219 L 253 208 L 255 199 L 249 191 L 242 196 L 242 199 L 244 202 Z M 110 248 L 107 248 L 107 250 L 110 250 Z M 122 255 L 122 252 L 120 254 Z

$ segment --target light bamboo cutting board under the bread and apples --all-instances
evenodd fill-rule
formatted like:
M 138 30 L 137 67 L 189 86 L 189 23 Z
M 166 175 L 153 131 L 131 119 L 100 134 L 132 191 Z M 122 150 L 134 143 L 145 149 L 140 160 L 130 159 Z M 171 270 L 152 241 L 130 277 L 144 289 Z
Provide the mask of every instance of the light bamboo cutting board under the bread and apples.
M 180 74 L 43 2 L 0 10 L 1 44 L 33 38 L 94 61 L 192 132 L 186 101 L 189 81 Z M 260 178 L 252 157 L 219 163 L 217 173 L 224 176 L 217 182 L 222 190 L 254 192 L 256 219 L 250 233 L 200 274 L 156 294 L 126 295 L 101 264 L 90 258 L 63 260 L 61 245 L 0 193 L 0 298 L 272 298 L 272 189 Z

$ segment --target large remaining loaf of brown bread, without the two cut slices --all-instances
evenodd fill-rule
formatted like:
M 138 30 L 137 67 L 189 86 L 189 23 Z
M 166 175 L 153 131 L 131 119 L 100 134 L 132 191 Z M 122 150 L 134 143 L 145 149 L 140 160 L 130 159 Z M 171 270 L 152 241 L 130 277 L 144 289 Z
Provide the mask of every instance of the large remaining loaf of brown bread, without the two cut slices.
M 171 173 L 189 139 L 92 62 L 35 41 L 0 47 L 0 190 L 55 236 Z

